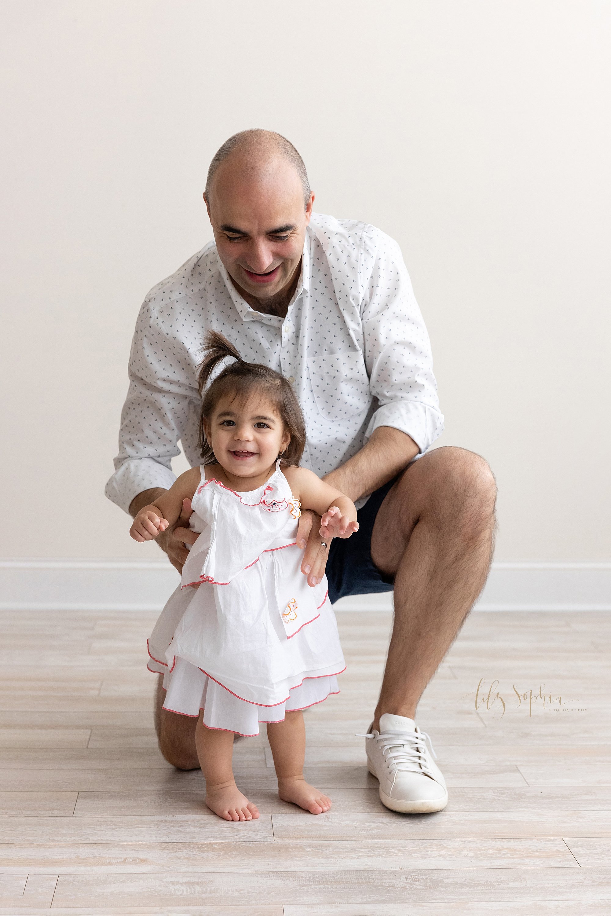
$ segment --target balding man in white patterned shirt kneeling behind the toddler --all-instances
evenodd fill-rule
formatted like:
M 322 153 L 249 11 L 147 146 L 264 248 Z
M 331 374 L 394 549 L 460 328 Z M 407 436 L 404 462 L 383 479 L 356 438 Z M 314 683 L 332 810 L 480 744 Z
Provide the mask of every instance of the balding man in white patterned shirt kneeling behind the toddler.
M 301 571 L 325 572 L 330 597 L 394 590 L 387 665 L 366 737 L 380 798 L 400 812 L 441 811 L 447 791 L 414 722 L 420 695 L 480 593 L 494 532 L 486 462 L 428 452 L 442 432 L 429 338 L 398 245 L 373 226 L 312 213 L 297 150 L 250 130 L 213 158 L 204 201 L 214 243 L 151 290 L 136 322 L 120 453 L 106 494 L 133 516 L 174 480 L 180 439 L 191 464 L 204 333 L 289 379 L 304 412 L 302 463 L 355 501 L 359 531 L 330 545 L 303 512 Z M 418 459 L 418 460 L 415 460 Z M 180 571 L 191 507 L 158 538 Z M 198 766 L 195 720 L 161 709 L 164 757 Z

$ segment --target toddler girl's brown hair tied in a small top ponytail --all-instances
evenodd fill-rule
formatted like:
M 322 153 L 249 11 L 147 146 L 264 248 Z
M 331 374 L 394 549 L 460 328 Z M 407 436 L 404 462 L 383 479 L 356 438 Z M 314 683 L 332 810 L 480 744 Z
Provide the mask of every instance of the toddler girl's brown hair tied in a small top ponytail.
M 226 395 L 233 395 L 234 398 L 245 401 L 256 392 L 267 398 L 290 433 L 290 442 L 282 455 L 282 463 L 299 465 L 306 442 L 305 422 L 299 401 L 286 378 L 270 369 L 268 365 L 245 363 L 235 346 L 216 331 L 206 334 L 203 352 L 205 356 L 197 372 L 202 395 L 198 446 L 202 452 L 203 463 L 211 464 L 216 461 L 212 445 L 206 438 L 203 421 L 212 418 L 214 408 Z M 227 356 L 233 356 L 235 363 L 224 368 L 206 388 L 213 368 Z

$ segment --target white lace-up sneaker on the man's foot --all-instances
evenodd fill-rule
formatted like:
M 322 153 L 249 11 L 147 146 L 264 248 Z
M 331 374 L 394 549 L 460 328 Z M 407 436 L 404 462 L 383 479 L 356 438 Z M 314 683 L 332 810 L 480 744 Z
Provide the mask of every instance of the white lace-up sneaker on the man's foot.
M 410 814 L 445 808 L 448 791 L 432 761 L 431 738 L 413 719 L 385 713 L 379 732 L 370 729 L 365 737 L 367 767 L 379 780 L 380 800 L 387 808 Z

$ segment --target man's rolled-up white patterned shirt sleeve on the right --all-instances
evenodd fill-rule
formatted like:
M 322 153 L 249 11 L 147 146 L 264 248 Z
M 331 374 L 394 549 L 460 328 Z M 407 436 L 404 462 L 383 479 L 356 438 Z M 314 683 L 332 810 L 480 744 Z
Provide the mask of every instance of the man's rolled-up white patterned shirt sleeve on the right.
M 379 407 L 366 429 L 406 432 L 424 453 L 442 434 L 443 415 L 432 371 L 431 342 L 400 248 L 371 227 L 359 271 L 366 369 Z

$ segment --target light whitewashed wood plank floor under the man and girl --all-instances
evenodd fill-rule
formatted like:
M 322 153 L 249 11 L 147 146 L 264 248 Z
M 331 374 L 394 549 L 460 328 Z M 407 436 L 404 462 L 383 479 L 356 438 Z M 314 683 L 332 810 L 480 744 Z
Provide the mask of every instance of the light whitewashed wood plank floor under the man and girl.
M 338 614 L 342 693 L 306 714 L 315 817 L 279 802 L 265 736 L 235 746 L 260 820 L 202 805 L 169 767 L 145 670 L 154 615 L 0 617 L 0 913 L 611 914 L 611 615 L 473 614 L 420 703 L 444 812 L 379 802 L 364 740 L 385 613 Z M 486 701 L 498 681 L 500 700 Z M 517 693 L 559 701 L 518 705 Z M 494 693 L 492 694 L 494 697 Z

